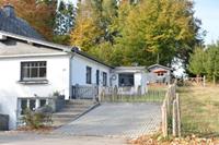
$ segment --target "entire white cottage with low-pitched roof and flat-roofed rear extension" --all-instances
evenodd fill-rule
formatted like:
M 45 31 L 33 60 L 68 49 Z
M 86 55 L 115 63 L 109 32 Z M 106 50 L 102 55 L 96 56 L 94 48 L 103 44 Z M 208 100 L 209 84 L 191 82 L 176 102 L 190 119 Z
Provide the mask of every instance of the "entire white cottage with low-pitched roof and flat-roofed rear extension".
M 91 98 L 91 93 L 96 96 L 92 88 L 100 87 L 130 86 L 136 92 L 141 86 L 141 94 L 147 90 L 146 68 L 113 68 L 78 48 L 2 31 L 0 68 L 0 113 L 10 116 L 10 129 L 16 128 L 24 108 L 47 104 L 55 92 L 68 100 Z M 76 93 L 83 87 L 85 93 Z

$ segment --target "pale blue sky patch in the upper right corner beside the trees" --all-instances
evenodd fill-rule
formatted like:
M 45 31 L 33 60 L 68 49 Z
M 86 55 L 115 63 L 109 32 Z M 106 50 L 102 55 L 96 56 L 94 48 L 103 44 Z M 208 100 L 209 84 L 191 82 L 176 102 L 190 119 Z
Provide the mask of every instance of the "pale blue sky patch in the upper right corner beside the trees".
M 194 0 L 195 16 L 203 22 L 201 27 L 207 31 L 205 44 L 219 39 L 219 0 Z

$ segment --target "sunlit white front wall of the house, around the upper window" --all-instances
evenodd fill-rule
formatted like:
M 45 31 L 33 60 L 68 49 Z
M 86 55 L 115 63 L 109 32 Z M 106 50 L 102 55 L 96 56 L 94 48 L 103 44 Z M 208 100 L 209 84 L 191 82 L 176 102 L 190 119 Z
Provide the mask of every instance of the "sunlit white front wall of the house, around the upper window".
M 0 113 L 10 114 L 10 129 L 15 128 L 18 97 L 48 97 L 60 92 L 69 98 L 69 57 L 31 57 L 0 59 Z M 22 61 L 46 61 L 48 84 L 21 84 Z

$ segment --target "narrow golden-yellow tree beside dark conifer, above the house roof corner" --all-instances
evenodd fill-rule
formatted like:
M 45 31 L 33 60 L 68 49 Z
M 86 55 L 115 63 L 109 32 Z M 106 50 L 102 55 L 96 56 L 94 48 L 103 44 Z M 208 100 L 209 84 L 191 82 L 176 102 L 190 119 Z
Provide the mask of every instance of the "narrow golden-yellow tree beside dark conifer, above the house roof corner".
M 96 15 L 90 0 L 79 1 L 76 26 L 71 32 L 71 45 L 89 51 L 100 40 L 103 33 L 96 25 Z

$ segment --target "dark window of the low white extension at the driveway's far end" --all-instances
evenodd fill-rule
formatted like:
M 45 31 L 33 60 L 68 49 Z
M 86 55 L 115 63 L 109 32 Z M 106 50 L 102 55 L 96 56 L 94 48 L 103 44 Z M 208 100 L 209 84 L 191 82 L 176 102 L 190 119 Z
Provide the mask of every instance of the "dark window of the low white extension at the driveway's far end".
M 134 74 L 122 73 L 118 75 L 118 86 L 134 86 Z

